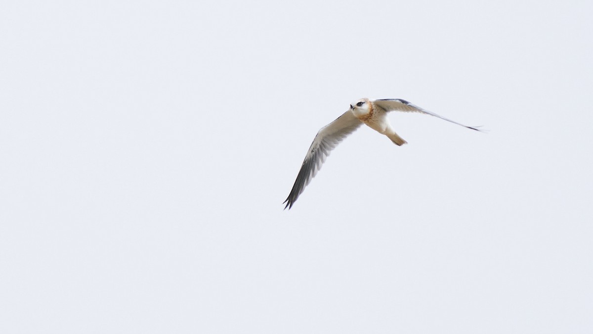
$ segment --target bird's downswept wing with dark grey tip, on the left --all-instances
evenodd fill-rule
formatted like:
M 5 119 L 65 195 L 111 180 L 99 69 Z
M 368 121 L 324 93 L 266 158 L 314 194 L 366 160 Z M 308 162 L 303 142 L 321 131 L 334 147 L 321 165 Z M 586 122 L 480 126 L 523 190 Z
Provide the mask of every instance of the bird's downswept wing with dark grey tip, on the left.
M 305 160 L 302 162 L 301 170 L 298 172 L 297 180 L 292 186 L 291 193 L 284 201 L 286 203 L 284 209 L 287 207 L 291 209 L 292 204 L 295 203 L 311 179 L 315 177 L 326 157 L 330 155 L 331 150 L 349 134 L 353 133 L 361 124 L 362 122 L 352 112 L 347 111 L 335 121 L 319 130 L 311 147 L 309 147 Z

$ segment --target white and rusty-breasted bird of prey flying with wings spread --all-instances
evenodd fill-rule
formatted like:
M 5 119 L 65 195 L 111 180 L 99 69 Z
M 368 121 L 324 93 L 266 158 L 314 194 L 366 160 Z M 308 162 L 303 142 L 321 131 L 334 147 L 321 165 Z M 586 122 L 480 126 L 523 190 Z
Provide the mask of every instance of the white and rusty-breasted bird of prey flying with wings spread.
M 482 131 L 475 127 L 468 127 L 451 121 L 451 119 L 436 115 L 402 99 L 357 100 L 350 105 L 350 109 L 342 114 L 342 116 L 339 116 L 335 121 L 319 130 L 311 147 L 307 151 L 305 160 L 302 162 L 301 170 L 298 172 L 297 180 L 292 186 L 291 193 L 284 201 L 286 203 L 284 209 L 287 207 L 291 209 L 302 191 L 305 190 L 311 179 L 315 177 L 315 174 L 317 174 L 331 150 L 362 124 L 368 125 L 372 130 L 380 134 L 384 134 L 397 146 L 406 144 L 407 141 L 397 135 L 387 119 L 387 113 L 390 111 L 419 112 L 444 119 L 445 121 L 461 125 L 471 130 Z

